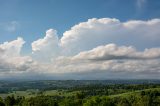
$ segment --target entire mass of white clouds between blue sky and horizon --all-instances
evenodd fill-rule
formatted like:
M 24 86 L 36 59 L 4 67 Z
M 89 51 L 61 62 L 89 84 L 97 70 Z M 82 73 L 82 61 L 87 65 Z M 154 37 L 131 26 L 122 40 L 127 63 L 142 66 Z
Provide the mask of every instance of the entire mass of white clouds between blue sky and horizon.
M 51 79 L 160 78 L 160 19 L 89 19 L 58 39 L 49 29 L 21 56 L 22 38 L 0 45 L 0 76 Z M 52 60 L 52 61 L 51 61 Z

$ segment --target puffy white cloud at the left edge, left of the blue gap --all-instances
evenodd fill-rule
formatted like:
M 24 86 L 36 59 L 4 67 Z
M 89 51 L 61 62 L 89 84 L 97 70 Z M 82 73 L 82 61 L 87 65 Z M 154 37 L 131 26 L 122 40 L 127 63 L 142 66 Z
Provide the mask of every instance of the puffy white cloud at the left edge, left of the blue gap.
M 0 73 L 26 71 L 33 60 L 30 56 L 21 56 L 21 48 L 25 41 L 16 40 L 0 44 Z

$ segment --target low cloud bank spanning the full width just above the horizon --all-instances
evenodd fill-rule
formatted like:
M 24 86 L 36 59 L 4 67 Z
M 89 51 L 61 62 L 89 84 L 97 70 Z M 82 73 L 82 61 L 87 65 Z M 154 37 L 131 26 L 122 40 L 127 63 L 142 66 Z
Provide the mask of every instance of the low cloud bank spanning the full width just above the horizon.
M 7 73 L 6 76 L 17 78 L 38 76 L 39 79 L 158 78 L 159 64 L 160 48 L 138 51 L 132 46 L 107 44 L 75 56 L 58 57 L 53 63 L 35 62 L 30 57 L 14 57 L 7 63 L 0 63 L 3 69 L 0 75 Z

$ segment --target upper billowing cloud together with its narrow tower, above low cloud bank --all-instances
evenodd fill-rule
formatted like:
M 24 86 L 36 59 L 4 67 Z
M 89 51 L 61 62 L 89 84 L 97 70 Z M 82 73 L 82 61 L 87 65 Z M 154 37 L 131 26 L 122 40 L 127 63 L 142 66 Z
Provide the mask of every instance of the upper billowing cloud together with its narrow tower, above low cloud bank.
M 44 38 L 32 43 L 32 51 L 37 58 L 49 59 L 60 54 L 75 55 L 109 43 L 133 45 L 141 50 L 159 47 L 159 28 L 160 19 L 120 22 L 115 18 L 93 18 L 73 26 L 61 39 L 56 30 L 47 30 Z

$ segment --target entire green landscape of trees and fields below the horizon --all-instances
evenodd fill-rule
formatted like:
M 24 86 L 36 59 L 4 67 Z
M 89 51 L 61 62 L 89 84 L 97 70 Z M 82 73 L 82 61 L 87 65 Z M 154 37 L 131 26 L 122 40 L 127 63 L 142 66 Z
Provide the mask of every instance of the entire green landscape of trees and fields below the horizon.
M 160 106 L 160 81 L 1 81 L 0 97 L 0 106 Z

